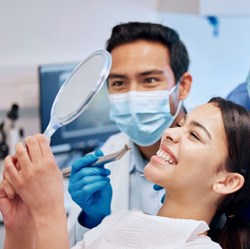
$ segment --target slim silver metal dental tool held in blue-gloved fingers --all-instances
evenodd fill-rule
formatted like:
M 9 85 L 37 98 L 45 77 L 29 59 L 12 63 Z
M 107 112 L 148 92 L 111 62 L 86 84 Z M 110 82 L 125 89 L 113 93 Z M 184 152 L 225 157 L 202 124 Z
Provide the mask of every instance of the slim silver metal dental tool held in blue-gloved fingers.
M 127 144 L 125 144 L 125 146 L 121 150 L 119 150 L 119 151 L 117 151 L 115 153 L 106 155 L 106 156 L 99 157 L 99 159 L 93 164 L 93 166 L 95 166 L 97 164 L 101 164 L 101 163 L 104 164 L 104 163 L 110 163 L 110 162 L 119 160 L 130 149 L 131 148 Z M 71 172 L 71 167 L 67 167 L 67 168 L 62 169 L 62 175 L 63 175 L 63 177 L 69 177 L 70 176 L 70 172 Z

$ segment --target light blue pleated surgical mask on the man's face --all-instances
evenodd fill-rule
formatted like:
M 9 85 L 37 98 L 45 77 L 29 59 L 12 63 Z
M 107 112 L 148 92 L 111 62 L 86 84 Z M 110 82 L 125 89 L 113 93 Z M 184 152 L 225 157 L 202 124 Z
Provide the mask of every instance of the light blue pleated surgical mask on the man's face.
M 179 102 L 175 115 L 170 112 L 169 96 L 175 93 L 176 89 L 177 85 L 171 91 L 110 94 L 109 117 L 136 144 L 153 145 L 161 138 L 164 130 L 172 125 L 179 113 L 182 102 Z

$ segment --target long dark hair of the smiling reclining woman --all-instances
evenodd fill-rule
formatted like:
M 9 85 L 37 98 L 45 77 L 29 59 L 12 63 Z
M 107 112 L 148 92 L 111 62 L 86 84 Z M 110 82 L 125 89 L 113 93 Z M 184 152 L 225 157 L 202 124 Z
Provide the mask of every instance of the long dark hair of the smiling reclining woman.
M 241 174 L 245 181 L 240 190 L 219 204 L 209 235 L 224 249 L 250 248 L 250 113 L 242 106 L 220 97 L 212 98 L 222 115 L 227 138 L 226 170 Z M 222 229 L 213 226 L 218 217 L 226 217 Z

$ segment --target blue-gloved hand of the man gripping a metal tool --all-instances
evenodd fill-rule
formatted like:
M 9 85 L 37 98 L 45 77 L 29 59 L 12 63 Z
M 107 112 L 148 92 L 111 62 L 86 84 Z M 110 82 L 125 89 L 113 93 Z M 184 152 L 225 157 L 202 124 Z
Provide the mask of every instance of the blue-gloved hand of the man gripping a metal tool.
M 88 228 L 97 226 L 111 212 L 110 170 L 105 169 L 104 164 L 94 164 L 102 155 L 102 151 L 97 150 L 76 160 L 69 177 L 69 193 L 82 208 L 78 220 Z

